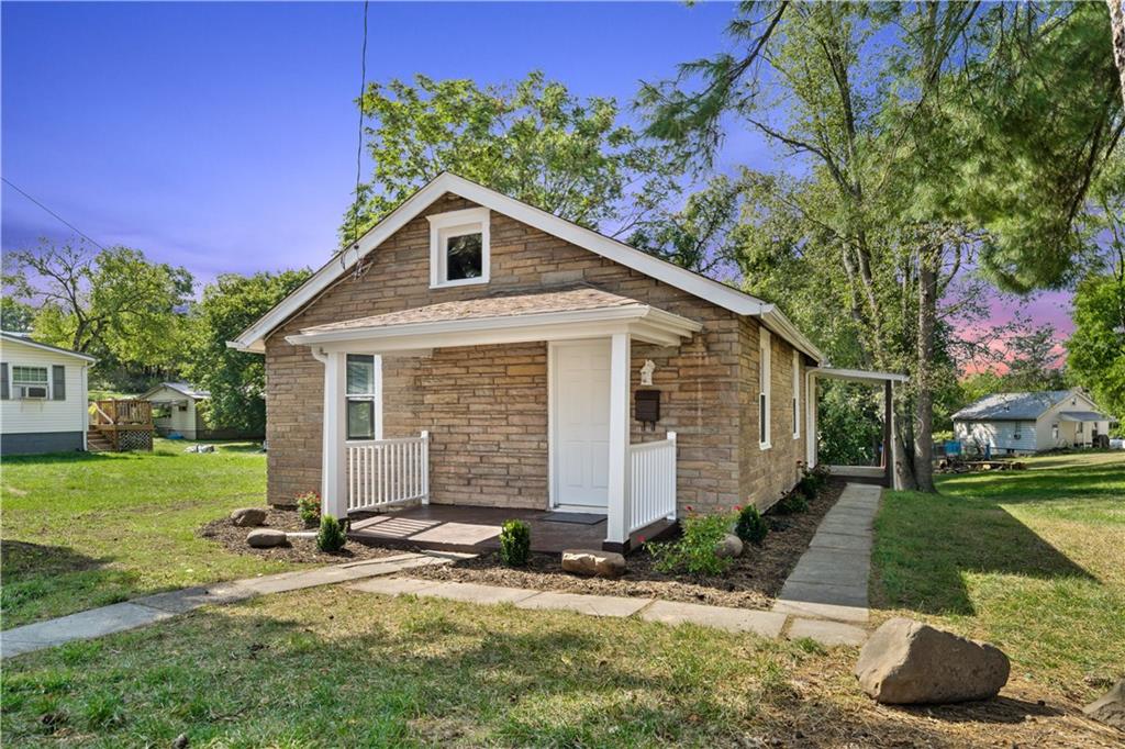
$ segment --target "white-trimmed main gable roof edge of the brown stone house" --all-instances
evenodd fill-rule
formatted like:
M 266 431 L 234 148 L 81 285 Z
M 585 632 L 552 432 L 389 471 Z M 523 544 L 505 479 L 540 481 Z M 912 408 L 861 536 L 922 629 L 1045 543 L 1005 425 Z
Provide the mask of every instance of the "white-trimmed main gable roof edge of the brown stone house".
M 759 317 L 766 327 L 817 361 L 825 360 L 824 353 L 798 331 L 796 326 L 774 305 L 450 172 L 442 172 L 399 204 L 364 234 L 354 247 L 344 250 L 340 255 L 325 263 L 312 278 L 243 331 L 238 337 L 228 342 L 227 345 L 241 351 L 264 351 L 266 337 L 271 332 L 316 300 L 336 279 L 350 271 L 360 259 L 386 242 L 395 232 L 447 192 L 510 216 L 736 314 Z

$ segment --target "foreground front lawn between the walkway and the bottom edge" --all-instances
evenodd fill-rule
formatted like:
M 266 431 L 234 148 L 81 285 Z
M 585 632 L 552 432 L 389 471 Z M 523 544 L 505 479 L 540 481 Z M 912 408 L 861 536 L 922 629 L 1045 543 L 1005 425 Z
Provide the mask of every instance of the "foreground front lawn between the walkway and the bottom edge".
M 2 730 L 11 747 L 181 732 L 192 747 L 734 745 L 804 710 L 790 676 L 822 658 L 698 628 L 321 588 L 20 657 Z

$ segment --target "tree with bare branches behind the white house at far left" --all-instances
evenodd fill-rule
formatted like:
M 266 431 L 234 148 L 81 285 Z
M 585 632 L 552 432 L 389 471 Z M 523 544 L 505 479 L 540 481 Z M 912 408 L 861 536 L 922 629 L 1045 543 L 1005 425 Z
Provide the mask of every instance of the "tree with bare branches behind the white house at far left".
M 37 339 L 126 366 L 178 366 L 192 283 L 187 269 L 122 246 L 93 253 L 44 241 L 4 255 L 4 286 L 38 307 Z

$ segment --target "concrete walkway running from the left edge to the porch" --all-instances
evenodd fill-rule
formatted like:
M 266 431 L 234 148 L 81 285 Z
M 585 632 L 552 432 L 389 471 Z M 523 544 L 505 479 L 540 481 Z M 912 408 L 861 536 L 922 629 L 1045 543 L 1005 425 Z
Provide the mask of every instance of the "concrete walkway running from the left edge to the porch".
M 0 632 L 0 657 L 9 658 L 72 640 L 100 638 L 104 634 L 145 626 L 200 606 L 245 601 L 268 593 L 299 590 L 333 583 L 346 583 L 381 575 L 393 575 L 417 567 L 448 565 L 465 554 L 404 553 L 381 559 L 320 567 L 298 572 L 281 572 L 231 583 L 158 593 L 125 603 L 91 608 L 70 616 L 17 626 Z

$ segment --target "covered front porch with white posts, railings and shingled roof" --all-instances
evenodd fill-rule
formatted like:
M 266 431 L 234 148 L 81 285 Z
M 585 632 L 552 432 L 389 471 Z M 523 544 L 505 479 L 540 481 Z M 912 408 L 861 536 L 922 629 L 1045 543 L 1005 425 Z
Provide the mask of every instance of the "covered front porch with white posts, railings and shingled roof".
M 631 434 L 632 344 L 674 349 L 701 327 L 579 287 L 287 336 L 324 366 L 324 511 L 380 542 L 488 548 L 521 518 L 538 549 L 628 551 L 675 521 L 677 495 L 676 434 Z

